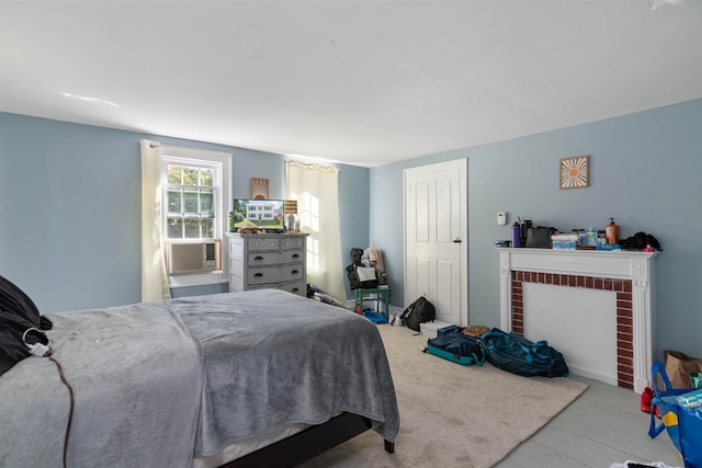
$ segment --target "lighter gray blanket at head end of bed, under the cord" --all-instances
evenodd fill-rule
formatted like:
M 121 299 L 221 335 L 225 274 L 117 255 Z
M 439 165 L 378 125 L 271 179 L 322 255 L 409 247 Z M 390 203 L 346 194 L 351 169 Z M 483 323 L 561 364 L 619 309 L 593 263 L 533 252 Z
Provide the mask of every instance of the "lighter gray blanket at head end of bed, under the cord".
M 202 355 L 165 304 L 47 315 L 54 358 L 73 388 L 73 467 L 189 467 Z M 48 358 L 0 377 L 0 466 L 61 465 L 69 393 Z

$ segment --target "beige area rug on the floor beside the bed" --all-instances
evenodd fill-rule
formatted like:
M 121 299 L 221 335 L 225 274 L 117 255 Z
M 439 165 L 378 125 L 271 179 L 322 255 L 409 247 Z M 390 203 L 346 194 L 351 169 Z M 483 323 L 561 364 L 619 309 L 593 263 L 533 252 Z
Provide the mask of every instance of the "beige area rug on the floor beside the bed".
M 397 391 L 395 453 L 369 431 L 304 464 L 321 467 L 490 467 L 585 391 L 568 378 L 520 377 L 424 354 L 427 336 L 378 326 Z

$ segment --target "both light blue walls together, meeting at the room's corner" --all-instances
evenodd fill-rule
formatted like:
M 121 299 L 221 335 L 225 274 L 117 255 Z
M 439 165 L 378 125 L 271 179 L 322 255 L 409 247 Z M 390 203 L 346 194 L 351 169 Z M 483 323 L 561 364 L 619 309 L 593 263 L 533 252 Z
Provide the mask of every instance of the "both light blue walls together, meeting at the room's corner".
M 0 275 L 43 311 L 140 299 L 139 139 L 234 153 L 234 195 L 267 178 L 284 195 L 284 157 L 0 113 Z M 342 260 L 352 247 L 383 250 L 393 304 L 403 306 L 403 170 L 468 160 L 471 322 L 499 324 L 497 254 L 508 239 L 496 214 L 562 229 L 654 233 L 656 347 L 702 355 L 702 101 L 371 169 L 339 164 Z M 561 158 L 590 156 L 590 187 L 561 191 Z M 226 285 L 225 285 L 226 287 Z M 218 286 L 186 288 L 206 294 Z M 349 295 L 350 297 L 350 295 Z M 596 339 L 596 338 L 593 338 Z

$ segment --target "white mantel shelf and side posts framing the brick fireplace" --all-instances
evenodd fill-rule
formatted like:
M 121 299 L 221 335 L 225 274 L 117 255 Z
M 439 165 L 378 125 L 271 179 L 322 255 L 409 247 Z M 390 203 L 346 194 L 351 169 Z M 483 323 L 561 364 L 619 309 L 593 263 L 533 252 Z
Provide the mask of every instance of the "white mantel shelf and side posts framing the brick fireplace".
M 512 331 L 513 272 L 530 272 L 530 277 L 533 273 L 543 273 L 548 278 L 567 275 L 571 282 L 578 279 L 577 284 L 557 284 L 567 287 L 585 286 L 586 279 L 588 284 L 602 284 L 608 279 L 631 281 L 633 387 L 638 393 L 644 390 L 649 381 L 654 357 L 654 259 L 658 252 L 514 248 L 496 250 L 500 255 L 500 326 L 505 331 Z

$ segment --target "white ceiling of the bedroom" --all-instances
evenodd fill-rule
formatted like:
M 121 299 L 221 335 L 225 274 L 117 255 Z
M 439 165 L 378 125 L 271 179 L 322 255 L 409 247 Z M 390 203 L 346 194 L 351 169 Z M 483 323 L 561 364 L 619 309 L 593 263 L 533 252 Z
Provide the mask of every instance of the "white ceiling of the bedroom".
M 702 98 L 649 1 L 0 0 L 0 111 L 373 167 Z

